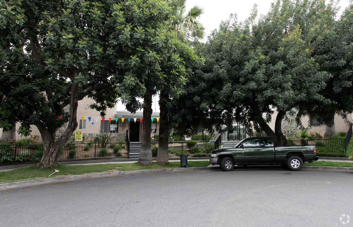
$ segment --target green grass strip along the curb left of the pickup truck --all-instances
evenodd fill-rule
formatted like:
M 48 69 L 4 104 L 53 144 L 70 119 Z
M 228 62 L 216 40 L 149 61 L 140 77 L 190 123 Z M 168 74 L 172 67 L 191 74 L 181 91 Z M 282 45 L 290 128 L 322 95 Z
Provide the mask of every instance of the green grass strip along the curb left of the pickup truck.
M 190 167 L 204 167 L 209 165 L 209 161 L 189 161 Z M 116 169 L 115 167 L 122 167 Z M 97 165 L 61 165 L 55 168 L 38 168 L 35 166 L 28 166 L 18 168 L 10 171 L 0 172 L 0 184 L 11 183 L 23 180 L 34 180 L 52 177 L 63 177 L 67 175 L 80 175 L 86 173 L 103 173 L 103 172 L 114 172 L 114 171 L 132 171 L 142 169 L 170 169 L 180 168 L 180 162 L 169 162 L 166 165 L 159 165 L 153 162 L 150 166 L 139 165 L 135 163 L 119 163 L 119 164 L 97 164 Z M 54 173 L 54 169 L 60 172 Z M 50 177 L 50 174 L 54 173 Z

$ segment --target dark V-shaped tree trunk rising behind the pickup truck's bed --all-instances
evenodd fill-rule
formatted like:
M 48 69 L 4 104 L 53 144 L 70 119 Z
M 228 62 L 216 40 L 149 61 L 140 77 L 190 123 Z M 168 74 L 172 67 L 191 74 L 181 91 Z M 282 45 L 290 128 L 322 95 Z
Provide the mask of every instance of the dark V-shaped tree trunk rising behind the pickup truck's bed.
M 276 147 L 280 146 L 289 146 L 289 141 L 283 135 L 281 125 L 282 125 L 282 120 L 283 117 L 285 116 L 286 112 L 284 111 L 279 111 L 276 117 L 276 122 L 275 122 L 275 131 L 273 131 L 268 124 L 263 120 L 262 114 L 257 114 L 258 119 L 259 119 L 259 125 L 260 128 L 266 132 L 268 136 L 270 136 L 273 139 L 273 143 Z

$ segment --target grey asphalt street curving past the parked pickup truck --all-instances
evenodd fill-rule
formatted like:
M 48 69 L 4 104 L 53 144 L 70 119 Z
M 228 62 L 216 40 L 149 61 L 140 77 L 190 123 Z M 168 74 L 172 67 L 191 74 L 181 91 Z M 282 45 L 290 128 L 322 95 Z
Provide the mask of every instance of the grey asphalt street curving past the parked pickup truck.
M 348 171 L 237 169 L 61 181 L 0 190 L 0 220 L 1 226 L 38 227 L 348 227 L 352 177 Z

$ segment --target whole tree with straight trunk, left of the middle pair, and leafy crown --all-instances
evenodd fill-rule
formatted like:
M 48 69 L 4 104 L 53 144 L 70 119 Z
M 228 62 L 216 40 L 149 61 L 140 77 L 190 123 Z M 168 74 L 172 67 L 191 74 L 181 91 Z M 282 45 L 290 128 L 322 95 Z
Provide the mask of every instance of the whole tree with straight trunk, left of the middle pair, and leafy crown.
M 165 1 L 159 3 L 154 10 L 161 15 L 159 18 L 161 20 L 149 18 L 151 25 L 158 24 L 159 27 L 131 28 L 131 30 L 139 29 L 141 32 L 142 29 L 154 32 L 145 33 L 141 36 L 140 42 L 132 43 L 136 48 L 127 54 L 131 56 L 128 63 L 133 67 L 124 69 L 124 79 L 119 84 L 118 90 L 127 110 L 136 112 L 143 108 L 142 145 L 138 160 L 142 165 L 152 164 L 150 139 L 152 96 L 163 89 L 168 89 L 173 95 L 180 94 L 180 88 L 185 83 L 186 62 L 193 64 L 198 60 L 193 50 L 181 42 L 177 38 L 177 33 L 170 29 L 175 3 Z M 143 16 L 144 13 L 141 13 Z

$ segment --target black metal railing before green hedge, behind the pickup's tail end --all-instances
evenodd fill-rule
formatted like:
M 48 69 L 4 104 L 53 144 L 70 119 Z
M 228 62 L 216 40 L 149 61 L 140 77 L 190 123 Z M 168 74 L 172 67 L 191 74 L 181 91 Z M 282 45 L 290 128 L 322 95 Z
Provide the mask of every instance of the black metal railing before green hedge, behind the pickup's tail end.
M 315 145 L 318 156 L 347 157 L 345 139 L 289 139 L 289 145 Z

